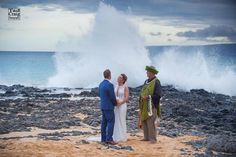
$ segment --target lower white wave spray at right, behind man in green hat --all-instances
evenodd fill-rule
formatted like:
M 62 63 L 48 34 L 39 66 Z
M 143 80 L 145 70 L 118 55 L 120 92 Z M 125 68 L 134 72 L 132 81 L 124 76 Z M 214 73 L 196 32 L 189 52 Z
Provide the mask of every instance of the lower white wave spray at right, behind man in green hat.
M 227 60 L 220 61 L 219 57 L 194 49 L 183 52 L 178 48 L 169 48 L 156 55 L 153 63 L 160 70 L 159 77 L 163 84 L 172 84 L 184 90 L 203 88 L 236 95 L 235 65 L 227 65 Z

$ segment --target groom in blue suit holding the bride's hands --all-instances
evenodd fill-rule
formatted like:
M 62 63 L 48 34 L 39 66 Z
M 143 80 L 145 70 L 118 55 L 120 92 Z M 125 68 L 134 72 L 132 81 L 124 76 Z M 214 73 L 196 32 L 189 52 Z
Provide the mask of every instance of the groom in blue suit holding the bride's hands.
M 103 72 L 104 80 L 99 84 L 99 96 L 101 99 L 100 107 L 102 111 L 101 141 L 115 145 L 113 141 L 113 130 L 115 123 L 114 106 L 116 105 L 116 96 L 111 80 L 111 71 L 109 69 Z

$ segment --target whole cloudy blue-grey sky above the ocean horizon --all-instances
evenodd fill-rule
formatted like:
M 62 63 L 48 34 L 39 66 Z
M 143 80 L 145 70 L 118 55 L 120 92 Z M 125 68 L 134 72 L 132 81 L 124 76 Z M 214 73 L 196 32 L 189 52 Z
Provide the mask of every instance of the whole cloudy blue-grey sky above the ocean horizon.
M 0 51 L 54 51 L 92 28 L 100 0 L 1 0 Z M 235 0 L 103 0 L 124 13 L 145 45 L 236 42 Z M 8 9 L 20 8 L 20 20 Z

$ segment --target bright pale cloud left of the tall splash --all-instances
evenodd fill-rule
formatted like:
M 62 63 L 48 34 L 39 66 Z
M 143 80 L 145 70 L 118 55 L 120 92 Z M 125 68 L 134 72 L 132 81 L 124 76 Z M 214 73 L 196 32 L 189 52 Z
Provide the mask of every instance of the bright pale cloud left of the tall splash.
M 9 21 L 8 10 L 0 8 L 1 50 L 55 50 L 58 41 L 66 36 L 80 37 L 89 31 L 94 18 L 94 14 L 76 14 L 60 7 L 54 11 L 38 6 L 20 9 L 21 20 Z

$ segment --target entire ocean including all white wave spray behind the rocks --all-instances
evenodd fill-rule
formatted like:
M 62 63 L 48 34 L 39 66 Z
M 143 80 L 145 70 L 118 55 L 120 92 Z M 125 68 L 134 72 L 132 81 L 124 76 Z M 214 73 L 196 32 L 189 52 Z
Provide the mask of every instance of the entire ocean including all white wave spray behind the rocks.
M 97 87 L 109 68 L 131 87 L 154 65 L 162 85 L 236 95 L 236 44 L 146 47 L 129 15 L 100 3 L 91 30 L 60 39 L 55 52 L 0 52 L 0 84 Z

